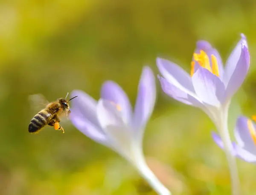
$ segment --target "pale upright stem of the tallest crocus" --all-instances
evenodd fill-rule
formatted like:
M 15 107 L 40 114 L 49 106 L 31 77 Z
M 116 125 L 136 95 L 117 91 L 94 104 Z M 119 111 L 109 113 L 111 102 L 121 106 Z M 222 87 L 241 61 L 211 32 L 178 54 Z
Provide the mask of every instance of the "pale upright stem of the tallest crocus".
M 236 157 L 232 154 L 232 142 L 230 140 L 230 134 L 228 131 L 228 108 L 229 104 L 224 107 L 224 110 L 220 116 L 220 124 L 218 127 L 221 139 L 224 143 L 224 151 L 227 156 L 227 162 L 230 169 L 230 177 L 231 177 L 231 186 L 232 186 L 232 195 L 240 194 L 240 182 L 239 182 L 239 174 L 236 165 Z

